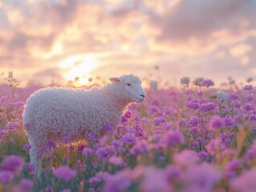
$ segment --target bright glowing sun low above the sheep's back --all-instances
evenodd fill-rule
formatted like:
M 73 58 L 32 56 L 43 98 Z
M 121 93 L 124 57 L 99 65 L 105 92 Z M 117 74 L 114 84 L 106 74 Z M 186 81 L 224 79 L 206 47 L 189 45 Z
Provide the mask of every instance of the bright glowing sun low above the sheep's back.
M 67 80 L 74 80 L 76 77 L 79 77 L 83 81 L 99 65 L 100 63 L 93 54 L 78 54 L 64 59 L 60 62 L 59 66 L 67 71 L 64 74 Z

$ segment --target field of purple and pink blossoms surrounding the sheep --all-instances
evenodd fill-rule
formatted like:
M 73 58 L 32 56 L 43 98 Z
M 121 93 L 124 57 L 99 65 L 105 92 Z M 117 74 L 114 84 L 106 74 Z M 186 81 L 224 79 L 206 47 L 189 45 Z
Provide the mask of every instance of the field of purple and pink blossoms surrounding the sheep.
M 39 151 L 41 178 L 29 161 L 25 101 L 14 91 L 1 95 L 0 191 L 255 191 L 254 87 L 230 83 L 217 90 L 203 78 L 190 85 L 181 78 L 181 85 L 148 89 L 111 142 L 93 135 L 89 142 L 48 141 Z

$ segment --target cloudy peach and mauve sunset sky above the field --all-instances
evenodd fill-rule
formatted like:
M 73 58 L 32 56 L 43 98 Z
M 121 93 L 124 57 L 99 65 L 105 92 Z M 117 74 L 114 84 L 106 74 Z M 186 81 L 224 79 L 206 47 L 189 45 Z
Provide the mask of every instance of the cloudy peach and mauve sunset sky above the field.
M 255 10 L 256 0 L 0 0 L 0 75 L 256 79 Z

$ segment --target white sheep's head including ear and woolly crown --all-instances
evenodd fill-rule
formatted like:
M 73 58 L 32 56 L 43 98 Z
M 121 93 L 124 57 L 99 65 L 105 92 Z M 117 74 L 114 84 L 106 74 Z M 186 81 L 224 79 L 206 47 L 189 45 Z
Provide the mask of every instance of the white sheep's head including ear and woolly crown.
M 120 78 L 109 78 L 109 80 L 123 87 L 124 93 L 122 95 L 128 102 L 141 103 L 144 101 L 146 94 L 141 86 L 140 78 L 129 74 Z

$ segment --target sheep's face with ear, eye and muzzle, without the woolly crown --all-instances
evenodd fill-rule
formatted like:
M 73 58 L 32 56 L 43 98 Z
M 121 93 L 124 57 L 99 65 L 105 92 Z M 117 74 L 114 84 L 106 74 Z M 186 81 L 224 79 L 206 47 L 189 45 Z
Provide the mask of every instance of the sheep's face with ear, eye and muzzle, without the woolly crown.
M 146 94 L 141 86 L 141 82 L 122 78 L 110 78 L 110 80 L 120 83 L 120 86 L 124 87 L 124 91 L 126 92 L 124 95 L 129 102 L 141 103 L 144 101 Z

